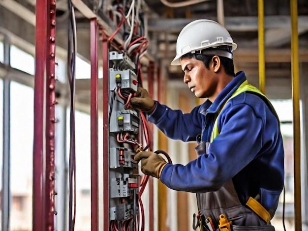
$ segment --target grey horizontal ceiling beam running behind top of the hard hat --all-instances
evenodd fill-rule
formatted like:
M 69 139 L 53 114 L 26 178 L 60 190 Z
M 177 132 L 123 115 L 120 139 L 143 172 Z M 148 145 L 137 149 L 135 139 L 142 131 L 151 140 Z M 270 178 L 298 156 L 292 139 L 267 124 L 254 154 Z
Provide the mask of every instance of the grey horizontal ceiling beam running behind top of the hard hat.
M 210 17 L 209 19 L 217 20 L 216 17 Z M 188 23 L 196 19 L 163 19 L 155 18 L 149 19 L 150 31 L 168 31 L 168 32 L 180 32 Z M 298 28 L 308 29 L 308 16 L 298 17 Z M 258 30 L 258 17 L 225 17 L 225 27 L 229 31 L 257 31 Z M 291 28 L 290 16 L 265 16 L 264 17 L 265 29 L 275 28 Z

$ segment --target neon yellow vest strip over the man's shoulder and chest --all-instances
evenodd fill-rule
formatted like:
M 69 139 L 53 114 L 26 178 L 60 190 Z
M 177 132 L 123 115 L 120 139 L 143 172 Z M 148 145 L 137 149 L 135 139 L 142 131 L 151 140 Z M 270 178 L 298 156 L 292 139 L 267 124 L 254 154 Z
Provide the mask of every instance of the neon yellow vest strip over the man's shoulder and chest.
M 246 80 L 246 81 L 244 81 L 240 85 L 239 88 L 237 88 L 237 90 L 230 96 L 230 98 L 220 107 L 220 109 L 218 111 L 218 115 L 219 115 L 219 113 L 222 111 L 222 109 L 224 108 L 224 106 L 226 105 L 226 103 L 230 99 L 232 99 L 233 97 L 243 93 L 244 91 L 253 91 L 253 92 L 256 92 L 256 93 L 258 93 L 260 95 L 263 95 L 265 97 L 265 95 L 258 88 L 248 84 L 248 82 Z M 214 122 L 214 127 L 213 127 L 213 131 L 212 131 L 212 134 L 211 134 L 211 141 L 210 141 L 210 143 L 212 143 L 214 138 L 219 135 L 219 130 L 218 130 L 218 126 L 217 126 L 217 120 L 218 120 L 218 116 L 217 116 L 217 118 L 216 118 L 216 120 Z

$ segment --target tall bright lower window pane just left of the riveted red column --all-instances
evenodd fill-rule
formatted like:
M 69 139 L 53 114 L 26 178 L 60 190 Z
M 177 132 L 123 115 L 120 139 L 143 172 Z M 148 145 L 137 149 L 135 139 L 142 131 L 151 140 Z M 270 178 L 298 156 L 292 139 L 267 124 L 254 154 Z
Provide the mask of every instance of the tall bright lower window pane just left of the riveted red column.
M 31 230 L 33 89 L 11 82 L 11 195 L 10 230 Z

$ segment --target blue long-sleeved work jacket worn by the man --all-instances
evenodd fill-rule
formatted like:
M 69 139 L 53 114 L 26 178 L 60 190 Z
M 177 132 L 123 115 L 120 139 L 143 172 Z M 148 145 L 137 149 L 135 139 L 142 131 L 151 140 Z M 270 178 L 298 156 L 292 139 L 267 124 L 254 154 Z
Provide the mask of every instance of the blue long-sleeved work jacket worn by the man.
M 214 103 L 207 100 L 187 114 L 156 101 L 149 121 L 171 139 L 210 142 L 219 108 L 244 81 L 245 73 L 239 72 Z M 232 179 L 242 204 L 259 195 L 259 202 L 275 213 L 284 182 L 284 151 L 276 112 L 259 95 L 243 92 L 225 104 L 217 122 L 220 134 L 208 153 L 186 165 L 167 164 L 161 182 L 174 190 L 204 193 L 216 191 Z

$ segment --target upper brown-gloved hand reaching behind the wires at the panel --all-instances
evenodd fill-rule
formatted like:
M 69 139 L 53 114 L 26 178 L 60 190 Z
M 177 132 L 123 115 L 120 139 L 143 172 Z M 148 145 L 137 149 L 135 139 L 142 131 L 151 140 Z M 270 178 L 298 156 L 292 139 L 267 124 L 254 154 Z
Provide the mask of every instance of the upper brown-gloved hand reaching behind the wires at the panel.
M 155 109 L 155 102 L 145 88 L 138 87 L 136 97 L 130 99 L 130 106 L 145 113 L 152 113 Z

